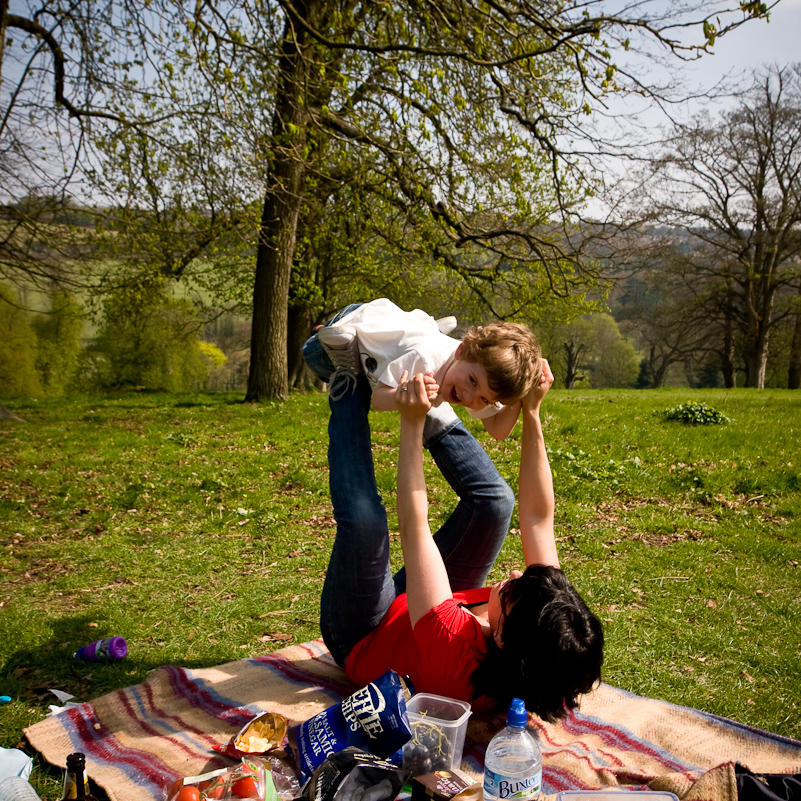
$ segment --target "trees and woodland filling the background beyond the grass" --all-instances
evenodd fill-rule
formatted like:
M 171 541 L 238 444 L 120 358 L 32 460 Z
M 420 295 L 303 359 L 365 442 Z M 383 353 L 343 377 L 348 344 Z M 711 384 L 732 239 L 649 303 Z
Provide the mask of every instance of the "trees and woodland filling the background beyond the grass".
M 312 325 L 380 296 L 527 322 L 565 386 L 797 386 L 796 69 L 640 153 L 637 214 L 586 212 L 604 98 L 661 91 L 625 54 L 702 55 L 769 10 L 724 8 L 0 9 L 5 393 L 247 371 L 248 400 L 285 397 Z

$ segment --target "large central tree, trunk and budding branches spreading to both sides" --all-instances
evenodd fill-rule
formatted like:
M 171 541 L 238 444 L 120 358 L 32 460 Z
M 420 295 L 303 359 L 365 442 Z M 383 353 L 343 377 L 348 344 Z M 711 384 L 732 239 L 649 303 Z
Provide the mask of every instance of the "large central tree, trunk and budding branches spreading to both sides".
M 583 121 L 610 92 L 658 91 L 617 57 L 696 57 L 768 11 L 671 8 L 106 0 L 47 2 L 3 25 L 27 37 L 28 63 L 89 146 L 81 176 L 114 206 L 108 241 L 119 256 L 127 243 L 128 267 L 178 279 L 237 237 L 251 248 L 255 265 L 222 264 L 252 281 L 257 401 L 287 394 L 290 309 L 298 330 L 326 311 L 330 296 L 310 290 L 350 242 L 343 220 L 361 256 L 397 268 L 413 250 L 498 316 L 597 282 L 578 226 L 601 143 Z

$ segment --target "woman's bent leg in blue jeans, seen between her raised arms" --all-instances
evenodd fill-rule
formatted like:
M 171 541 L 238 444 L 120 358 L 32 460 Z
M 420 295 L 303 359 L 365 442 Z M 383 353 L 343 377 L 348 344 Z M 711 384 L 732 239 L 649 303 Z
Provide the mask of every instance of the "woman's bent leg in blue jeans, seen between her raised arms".
M 427 443 L 442 475 L 459 497 L 456 508 L 434 535 L 451 588 L 482 587 L 503 547 L 515 495 L 476 438 L 457 421 Z M 395 585 L 404 591 L 403 570 Z

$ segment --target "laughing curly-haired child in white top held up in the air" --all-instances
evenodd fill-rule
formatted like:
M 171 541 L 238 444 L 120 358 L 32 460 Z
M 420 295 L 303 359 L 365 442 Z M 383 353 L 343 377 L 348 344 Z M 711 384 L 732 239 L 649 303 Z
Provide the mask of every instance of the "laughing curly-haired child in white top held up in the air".
M 364 372 L 372 406 L 379 411 L 397 408 L 395 391 L 404 372 L 425 374 L 432 404 L 427 446 L 458 421 L 448 405 L 453 403 L 480 419 L 495 439 L 505 439 L 520 415 L 521 399 L 541 380 L 539 344 L 518 323 L 473 327 L 461 341 L 447 336 L 455 325 L 452 317 L 435 320 L 420 309 L 406 312 L 379 298 L 331 318 L 307 340 L 303 357 L 329 383 L 334 402 Z

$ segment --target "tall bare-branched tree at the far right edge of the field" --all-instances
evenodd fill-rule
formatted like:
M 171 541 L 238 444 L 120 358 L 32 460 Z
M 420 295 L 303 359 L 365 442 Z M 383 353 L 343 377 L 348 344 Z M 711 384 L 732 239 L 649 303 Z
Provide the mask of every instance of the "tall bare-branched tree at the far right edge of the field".
M 762 388 L 771 332 L 801 283 L 801 65 L 761 71 L 733 108 L 677 126 L 653 165 L 650 213 L 682 241 L 695 295 L 685 318 L 717 321 L 724 373 L 736 336 L 745 383 Z

